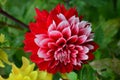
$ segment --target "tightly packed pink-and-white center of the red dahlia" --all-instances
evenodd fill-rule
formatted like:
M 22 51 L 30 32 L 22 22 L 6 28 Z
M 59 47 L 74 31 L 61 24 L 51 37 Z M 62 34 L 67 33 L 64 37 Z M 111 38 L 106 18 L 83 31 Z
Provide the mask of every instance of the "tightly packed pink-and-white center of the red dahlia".
M 55 60 L 63 62 L 65 65 L 70 62 L 70 50 L 59 48 L 54 54 Z

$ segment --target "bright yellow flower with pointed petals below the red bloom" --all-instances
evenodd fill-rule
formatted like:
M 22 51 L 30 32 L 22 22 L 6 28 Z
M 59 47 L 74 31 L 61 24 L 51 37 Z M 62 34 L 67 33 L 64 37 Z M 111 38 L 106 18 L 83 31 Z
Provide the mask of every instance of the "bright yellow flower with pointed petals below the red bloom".
M 7 79 L 0 76 L 0 80 L 52 80 L 52 74 L 46 71 L 34 70 L 35 64 L 22 57 L 22 67 L 18 68 L 12 64 L 12 71 Z

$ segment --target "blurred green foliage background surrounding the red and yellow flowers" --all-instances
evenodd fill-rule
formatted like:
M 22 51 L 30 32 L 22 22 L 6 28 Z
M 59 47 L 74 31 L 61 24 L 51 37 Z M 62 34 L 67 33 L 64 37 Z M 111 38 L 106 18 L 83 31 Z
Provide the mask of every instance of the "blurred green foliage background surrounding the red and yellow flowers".
M 99 44 L 95 59 L 75 71 L 78 80 L 120 80 L 120 0 L 0 0 L 0 34 L 6 40 L 0 48 L 7 52 L 9 60 L 20 67 L 21 57 L 29 57 L 23 51 L 27 29 L 3 15 L 1 9 L 28 25 L 34 21 L 36 7 L 50 11 L 57 4 L 67 9 L 75 7 L 83 20 L 91 22 L 94 40 Z M 10 69 L 0 68 L 0 75 L 7 77 Z

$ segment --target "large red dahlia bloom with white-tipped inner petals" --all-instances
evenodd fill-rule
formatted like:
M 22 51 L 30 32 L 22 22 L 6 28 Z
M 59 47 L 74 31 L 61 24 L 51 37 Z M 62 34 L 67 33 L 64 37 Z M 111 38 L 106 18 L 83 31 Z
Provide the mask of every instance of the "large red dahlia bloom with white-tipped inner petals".
M 58 5 L 50 13 L 36 9 L 36 14 L 25 35 L 24 50 L 32 52 L 31 60 L 40 70 L 70 72 L 93 59 L 98 46 L 91 24 L 81 20 L 75 8 Z

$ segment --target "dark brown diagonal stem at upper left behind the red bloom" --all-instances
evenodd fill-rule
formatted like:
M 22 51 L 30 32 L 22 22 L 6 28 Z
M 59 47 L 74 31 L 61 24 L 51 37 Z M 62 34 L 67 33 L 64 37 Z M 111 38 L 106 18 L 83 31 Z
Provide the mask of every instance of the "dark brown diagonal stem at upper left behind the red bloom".
M 23 22 L 21 22 L 20 20 L 16 19 L 15 17 L 11 16 L 10 14 L 8 14 L 7 12 L 5 12 L 2 8 L 0 8 L 0 14 L 6 16 L 7 18 L 15 21 L 16 23 L 18 23 L 20 25 L 20 27 L 22 28 L 27 28 L 28 29 L 28 25 L 24 24 Z

